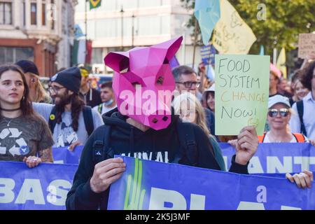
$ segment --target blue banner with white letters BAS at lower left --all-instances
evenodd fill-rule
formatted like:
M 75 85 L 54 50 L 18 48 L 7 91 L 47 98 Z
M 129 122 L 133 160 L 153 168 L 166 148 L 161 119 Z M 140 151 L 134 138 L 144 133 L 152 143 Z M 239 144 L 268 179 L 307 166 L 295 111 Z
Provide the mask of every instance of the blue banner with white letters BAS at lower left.
M 0 162 L 0 210 L 64 210 L 77 165 Z

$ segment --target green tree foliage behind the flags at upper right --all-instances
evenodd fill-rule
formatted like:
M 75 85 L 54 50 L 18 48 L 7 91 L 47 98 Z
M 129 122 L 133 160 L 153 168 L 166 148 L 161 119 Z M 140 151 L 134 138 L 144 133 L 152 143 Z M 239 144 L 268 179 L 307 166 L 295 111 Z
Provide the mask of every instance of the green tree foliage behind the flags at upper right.
M 186 8 L 195 8 L 195 0 L 181 0 Z M 260 45 L 265 46 L 265 55 L 272 55 L 272 49 L 285 47 L 286 50 L 297 48 L 298 34 L 314 31 L 314 0 L 228 0 L 235 7 L 241 18 L 253 30 L 257 41 L 250 53 L 258 54 Z M 267 19 L 258 20 L 258 4 L 263 3 L 267 10 Z M 221 10 L 224 10 L 224 8 Z M 189 27 L 194 27 L 192 15 Z M 200 29 L 197 29 L 200 32 Z M 192 34 L 193 36 L 193 34 Z M 198 38 L 200 42 L 200 35 Z

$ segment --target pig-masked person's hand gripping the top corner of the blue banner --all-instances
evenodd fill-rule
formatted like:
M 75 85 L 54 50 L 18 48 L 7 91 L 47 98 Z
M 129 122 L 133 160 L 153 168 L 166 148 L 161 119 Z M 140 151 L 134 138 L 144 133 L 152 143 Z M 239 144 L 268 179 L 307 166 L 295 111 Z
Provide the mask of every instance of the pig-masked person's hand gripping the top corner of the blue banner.
M 102 193 L 123 175 L 126 164 L 122 158 L 113 158 L 97 163 L 90 179 L 90 187 L 94 193 Z

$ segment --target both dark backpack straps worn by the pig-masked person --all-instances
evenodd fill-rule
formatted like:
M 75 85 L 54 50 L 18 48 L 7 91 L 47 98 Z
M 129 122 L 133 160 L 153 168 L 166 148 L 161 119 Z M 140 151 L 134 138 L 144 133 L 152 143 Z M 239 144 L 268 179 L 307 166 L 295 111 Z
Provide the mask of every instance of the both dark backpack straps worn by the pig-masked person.
M 109 113 L 113 112 L 109 111 Z M 172 163 L 179 163 L 179 160 L 181 160 L 182 158 L 186 158 L 190 166 L 196 167 L 198 165 L 198 151 L 193 125 L 191 125 L 190 123 L 183 123 L 181 122 L 181 120 L 178 120 L 176 126 L 177 132 L 179 134 L 181 150 L 176 152 L 175 158 Z M 99 127 L 99 130 L 95 132 L 95 140 L 92 145 L 92 161 L 94 165 L 102 162 L 103 160 L 113 158 L 114 151 L 111 147 L 109 147 L 110 134 L 111 125 L 106 125 L 106 123 L 105 125 Z M 214 154 L 214 152 L 212 151 L 211 153 Z

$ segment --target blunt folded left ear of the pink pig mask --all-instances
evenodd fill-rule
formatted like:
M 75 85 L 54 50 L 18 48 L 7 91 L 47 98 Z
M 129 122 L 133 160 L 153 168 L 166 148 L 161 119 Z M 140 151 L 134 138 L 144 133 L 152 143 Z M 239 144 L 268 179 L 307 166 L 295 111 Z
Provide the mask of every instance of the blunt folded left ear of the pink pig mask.
M 104 57 L 104 63 L 113 71 L 123 73 L 129 69 L 129 52 L 110 52 Z

